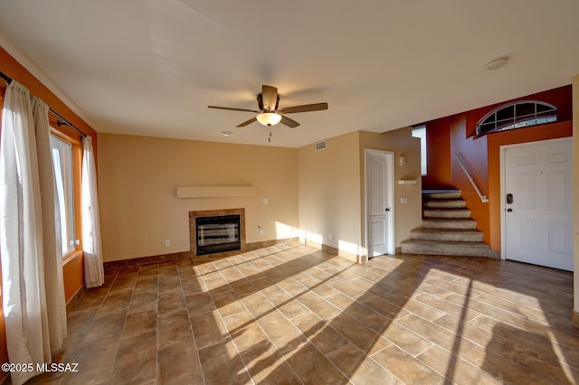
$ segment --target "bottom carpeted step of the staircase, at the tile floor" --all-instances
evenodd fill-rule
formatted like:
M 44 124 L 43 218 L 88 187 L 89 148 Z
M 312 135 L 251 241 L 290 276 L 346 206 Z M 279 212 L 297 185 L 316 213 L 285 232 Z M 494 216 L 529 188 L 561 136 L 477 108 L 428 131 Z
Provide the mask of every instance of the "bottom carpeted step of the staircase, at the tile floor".
M 489 257 L 489 245 L 483 242 L 455 242 L 440 240 L 404 240 L 401 244 L 404 254 L 429 254 L 464 257 Z

